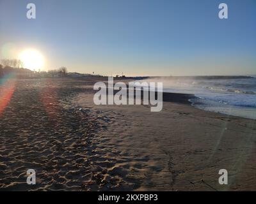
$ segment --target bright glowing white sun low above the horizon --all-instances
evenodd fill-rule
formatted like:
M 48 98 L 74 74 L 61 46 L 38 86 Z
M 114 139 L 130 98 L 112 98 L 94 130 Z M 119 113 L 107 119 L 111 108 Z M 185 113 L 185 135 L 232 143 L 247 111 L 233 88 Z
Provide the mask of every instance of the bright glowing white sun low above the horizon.
M 23 67 L 30 70 L 38 70 L 44 67 L 44 56 L 35 49 L 26 49 L 20 52 L 19 59 Z

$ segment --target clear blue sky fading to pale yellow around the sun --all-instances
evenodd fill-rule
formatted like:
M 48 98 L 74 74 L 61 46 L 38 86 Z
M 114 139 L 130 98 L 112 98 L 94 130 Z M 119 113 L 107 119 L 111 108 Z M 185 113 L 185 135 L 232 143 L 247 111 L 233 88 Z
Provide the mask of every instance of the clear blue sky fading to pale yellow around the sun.
M 26 4 L 36 4 L 36 19 Z M 228 5 L 228 19 L 218 5 Z M 115 75 L 256 74 L 255 0 L 0 0 L 0 58 Z

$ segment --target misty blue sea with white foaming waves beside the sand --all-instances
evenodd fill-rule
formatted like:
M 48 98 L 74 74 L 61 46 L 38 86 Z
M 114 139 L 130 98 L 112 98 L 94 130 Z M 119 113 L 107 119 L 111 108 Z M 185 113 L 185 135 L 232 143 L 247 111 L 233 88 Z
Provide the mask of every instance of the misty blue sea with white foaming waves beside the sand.
M 256 119 L 256 78 L 249 77 L 152 77 L 163 82 L 164 92 L 194 94 L 192 105 L 202 110 Z

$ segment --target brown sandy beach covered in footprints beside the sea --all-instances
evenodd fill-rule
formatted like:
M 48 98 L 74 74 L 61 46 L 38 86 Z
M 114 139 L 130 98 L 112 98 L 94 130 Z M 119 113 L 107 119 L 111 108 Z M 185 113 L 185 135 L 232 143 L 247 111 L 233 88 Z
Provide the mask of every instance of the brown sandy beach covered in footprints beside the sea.
M 96 106 L 99 80 L 0 85 L 10 92 L 0 107 L 0 191 L 256 190 L 255 120 L 198 110 L 182 94 L 164 98 L 161 112 Z M 36 185 L 26 183 L 30 168 Z

